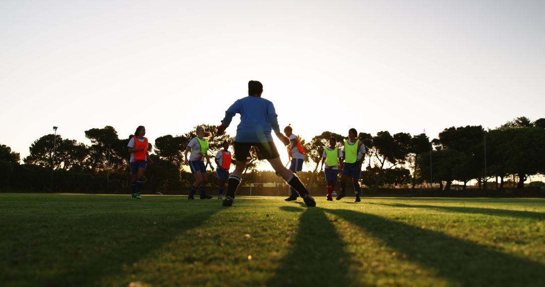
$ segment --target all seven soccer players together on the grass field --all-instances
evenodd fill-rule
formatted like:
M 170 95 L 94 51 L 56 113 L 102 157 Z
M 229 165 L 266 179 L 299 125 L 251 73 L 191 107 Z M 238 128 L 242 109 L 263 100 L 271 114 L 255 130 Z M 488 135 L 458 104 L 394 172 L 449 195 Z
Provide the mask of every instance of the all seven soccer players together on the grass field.
M 293 134 L 291 126 L 284 128 L 284 134 L 280 132 L 278 120 L 274 105 L 267 99 L 261 97 L 263 93 L 263 85 L 251 80 L 248 83 L 248 96 L 238 99 L 225 112 L 225 117 L 217 127 L 217 134 L 222 135 L 225 129 L 229 127 L 233 116 L 240 114 L 240 124 L 237 127 L 237 135 L 235 136 L 234 157 L 229 152 L 229 143 L 223 142 L 223 149 L 216 153 L 216 174 L 220 179 L 219 199 L 223 199 L 223 206 L 233 205 L 235 191 L 241 181 L 242 173 L 246 167 L 246 163 L 251 159 L 250 150 L 255 149 L 258 159 L 268 160 L 272 169 L 275 170 L 278 176 L 281 176 L 290 186 L 289 197 L 286 201 L 295 201 L 301 197 L 308 207 L 315 207 L 316 201 L 308 194 L 308 190 L 301 183 L 301 180 L 296 176 L 296 172 L 302 170 L 302 164 L 305 160 L 305 150 L 297 136 Z M 278 139 L 287 146 L 288 155 L 290 158 L 290 167 L 287 169 L 280 160 L 280 155 L 272 141 L 271 131 L 275 132 Z M 195 199 L 197 190 L 200 191 L 201 199 L 210 199 L 212 196 L 205 192 L 208 183 L 206 173 L 207 166 L 210 165 L 211 170 L 214 170 L 208 155 L 208 138 L 211 136 L 204 127 L 199 126 L 196 130 L 197 136 L 187 144 L 185 149 L 186 165 L 190 166 L 191 172 L 195 177 L 195 183 L 191 185 L 189 199 Z M 147 163 L 152 164 L 153 161 L 149 157 L 147 151 L 148 140 L 146 128 L 139 126 L 136 129 L 135 135 L 130 139 L 128 151 L 131 153 L 130 170 L 131 170 L 131 188 L 132 197 L 140 199 L 140 191 L 142 189 L 144 171 Z M 190 153 L 189 158 L 187 153 Z M 359 179 L 361 177 L 361 165 L 366 154 L 365 145 L 358 139 L 358 132 L 351 128 L 348 131 L 348 140 L 344 141 L 343 148 L 337 147 L 335 138 L 329 139 L 329 146 L 324 148 L 322 154 L 322 169 L 325 172 L 325 180 L 327 182 L 327 200 L 333 200 L 333 192 L 338 179 L 338 174 L 341 174 L 341 192 L 337 196 L 340 200 L 346 196 L 346 182 L 349 177 L 354 183 L 354 192 L 356 195 L 355 202 L 360 202 L 361 187 Z M 229 169 L 232 164 L 232 158 L 235 158 L 235 169 L 229 174 Z M 207 163 L 204 164 L 204 159 Z M 325 169 L 324 169 L 325 164 Z M 227 183 L 227 193 L 223 198 L 225 184 Z

